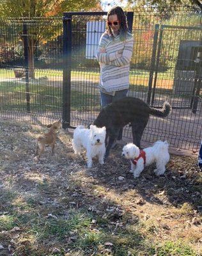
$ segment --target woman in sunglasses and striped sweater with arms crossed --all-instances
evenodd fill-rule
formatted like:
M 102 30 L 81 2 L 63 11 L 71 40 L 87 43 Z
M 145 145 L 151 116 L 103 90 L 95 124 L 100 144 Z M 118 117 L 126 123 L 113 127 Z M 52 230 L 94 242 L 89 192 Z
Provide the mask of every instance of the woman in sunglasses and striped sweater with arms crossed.
M 130 60 L 134 37 L 128 32 L 127 20 L 120 6 L 107 13 L 107 29 L 100 38 L 97 60 L 100 63 L 100 89 L 102 108 L 127 95 Z M 122 138 L 122 130 L 118 140 Z

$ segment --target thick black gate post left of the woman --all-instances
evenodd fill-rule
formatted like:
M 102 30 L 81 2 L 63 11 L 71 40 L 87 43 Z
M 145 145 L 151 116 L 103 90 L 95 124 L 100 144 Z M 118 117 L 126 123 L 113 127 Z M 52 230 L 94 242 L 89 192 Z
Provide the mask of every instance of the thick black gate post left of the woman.
M 72 14 L 63 15 L 63 129 L 70 126 Z

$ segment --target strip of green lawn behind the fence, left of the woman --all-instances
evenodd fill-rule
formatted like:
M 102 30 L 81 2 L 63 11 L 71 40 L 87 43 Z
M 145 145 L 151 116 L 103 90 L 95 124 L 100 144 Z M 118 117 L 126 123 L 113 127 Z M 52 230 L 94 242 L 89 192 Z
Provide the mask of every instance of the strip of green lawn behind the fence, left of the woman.
M 24 83 L 0 82 L 2 93 L 1 108 L 6 110 L 26 111 L 26 88 Z M 30 109 L 32 112 L 61 111 L 62 89 L 29 84 Z M 91 111 L 92 108 L 99 108 L 98 95 L 92 93 L 71 91 L 71 109 Z

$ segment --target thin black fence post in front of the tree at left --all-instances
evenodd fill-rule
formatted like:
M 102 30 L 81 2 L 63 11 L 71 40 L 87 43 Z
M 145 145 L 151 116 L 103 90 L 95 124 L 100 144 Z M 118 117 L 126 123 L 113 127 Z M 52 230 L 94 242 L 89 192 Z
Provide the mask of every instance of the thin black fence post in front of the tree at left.
M 26 72 L 26 105 L 27 112 L 30 112 L 30 95 L 29 95 L 29 56 L 28 56 L 28 38 L 27 38 L 27 24 L 23 23 L 23 42 L 24 42 L 24 62 Z

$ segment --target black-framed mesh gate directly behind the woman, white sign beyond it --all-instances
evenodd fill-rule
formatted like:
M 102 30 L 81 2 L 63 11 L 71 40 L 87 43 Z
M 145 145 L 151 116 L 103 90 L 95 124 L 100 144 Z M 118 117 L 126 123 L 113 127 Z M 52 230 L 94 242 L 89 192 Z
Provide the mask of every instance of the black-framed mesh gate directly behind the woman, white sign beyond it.
M 98 40 L 105 31 L 107 12 L 68 12 L 63 17 L 63 128 L 79 121 L 90 124 L 100 110 L 97 90 Z M 127 12 L 132 31 L 133 12 Z M 79 33 L 78 33 L 79 32 Z M 75 79 L 77 77 L 79 80 Z M 70 103 L 71 102 L 71 103 Z M 74 106 L 78 106 L 77 109 Z M 85 112 L 81 110 L 85 109 Z

